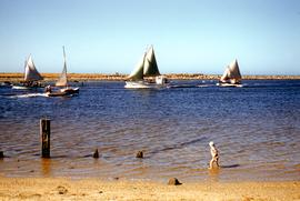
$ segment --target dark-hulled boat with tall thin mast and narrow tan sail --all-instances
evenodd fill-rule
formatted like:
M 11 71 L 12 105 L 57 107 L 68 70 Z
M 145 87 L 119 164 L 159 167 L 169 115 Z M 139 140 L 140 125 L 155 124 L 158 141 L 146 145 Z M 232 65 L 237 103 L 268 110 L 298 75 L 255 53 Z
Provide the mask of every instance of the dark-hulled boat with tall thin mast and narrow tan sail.
M 71 88 L 68 86 L 67 60 L 66 60 L 64 47 L 62 47 L 62 50 L 63 50 L 63 69 L 58 81 L 56 82 L 56 87 L 63 87 L 63 88 L 56 92 L 52 92 L 51 88 L 47 88 L 49 97 L 63 97 L 63 96 L 71 96 L 74 93 L 79 93 L 79 88 Z

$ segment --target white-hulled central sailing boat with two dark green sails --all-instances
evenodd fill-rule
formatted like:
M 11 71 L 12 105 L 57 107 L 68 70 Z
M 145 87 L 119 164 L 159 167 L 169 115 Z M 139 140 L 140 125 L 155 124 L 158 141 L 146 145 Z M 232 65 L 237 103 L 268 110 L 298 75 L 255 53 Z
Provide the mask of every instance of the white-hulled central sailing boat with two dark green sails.
M 161 76 L 159 72 L 153 46 L 151 46 L 143 53 L 141 60 L 138 62 L 133 71 L 129 74 L 124 88 L 161 88 L 166 87 L 167 83 L 167 78 L 164 76 Z

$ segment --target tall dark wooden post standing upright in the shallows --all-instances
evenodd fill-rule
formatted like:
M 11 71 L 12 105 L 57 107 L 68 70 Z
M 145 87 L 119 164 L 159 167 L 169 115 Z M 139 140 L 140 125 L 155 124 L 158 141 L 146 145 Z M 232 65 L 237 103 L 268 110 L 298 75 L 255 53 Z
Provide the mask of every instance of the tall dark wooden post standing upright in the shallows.
M 50 158 L 50 119 L 40 120 L 41 157 Z

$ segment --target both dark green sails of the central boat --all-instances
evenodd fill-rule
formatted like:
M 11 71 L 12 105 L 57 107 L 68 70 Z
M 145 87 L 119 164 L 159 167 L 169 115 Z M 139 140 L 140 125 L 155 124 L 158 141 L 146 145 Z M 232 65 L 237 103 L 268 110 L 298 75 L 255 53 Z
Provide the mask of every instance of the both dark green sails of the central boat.
M 128 79 L 132 81 L 142 80 L 143 77 L 157 77 L 160 76 L 158 63 L 151 46 L 147 52 L 143 53 L 142 58 L 138 62 L 137 67 L 129 74 Z

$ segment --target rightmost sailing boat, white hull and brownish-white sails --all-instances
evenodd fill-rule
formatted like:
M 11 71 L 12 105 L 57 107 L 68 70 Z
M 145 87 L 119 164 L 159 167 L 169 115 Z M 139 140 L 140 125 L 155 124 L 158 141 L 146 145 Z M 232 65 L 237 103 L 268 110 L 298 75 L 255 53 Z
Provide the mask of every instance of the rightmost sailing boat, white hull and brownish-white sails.
M 220 87 L 242 87 L 241 84 L 241 73 L 238 64 L 238 60 L 233 60 L 227 68 L 219 80 L 217 86 Z

